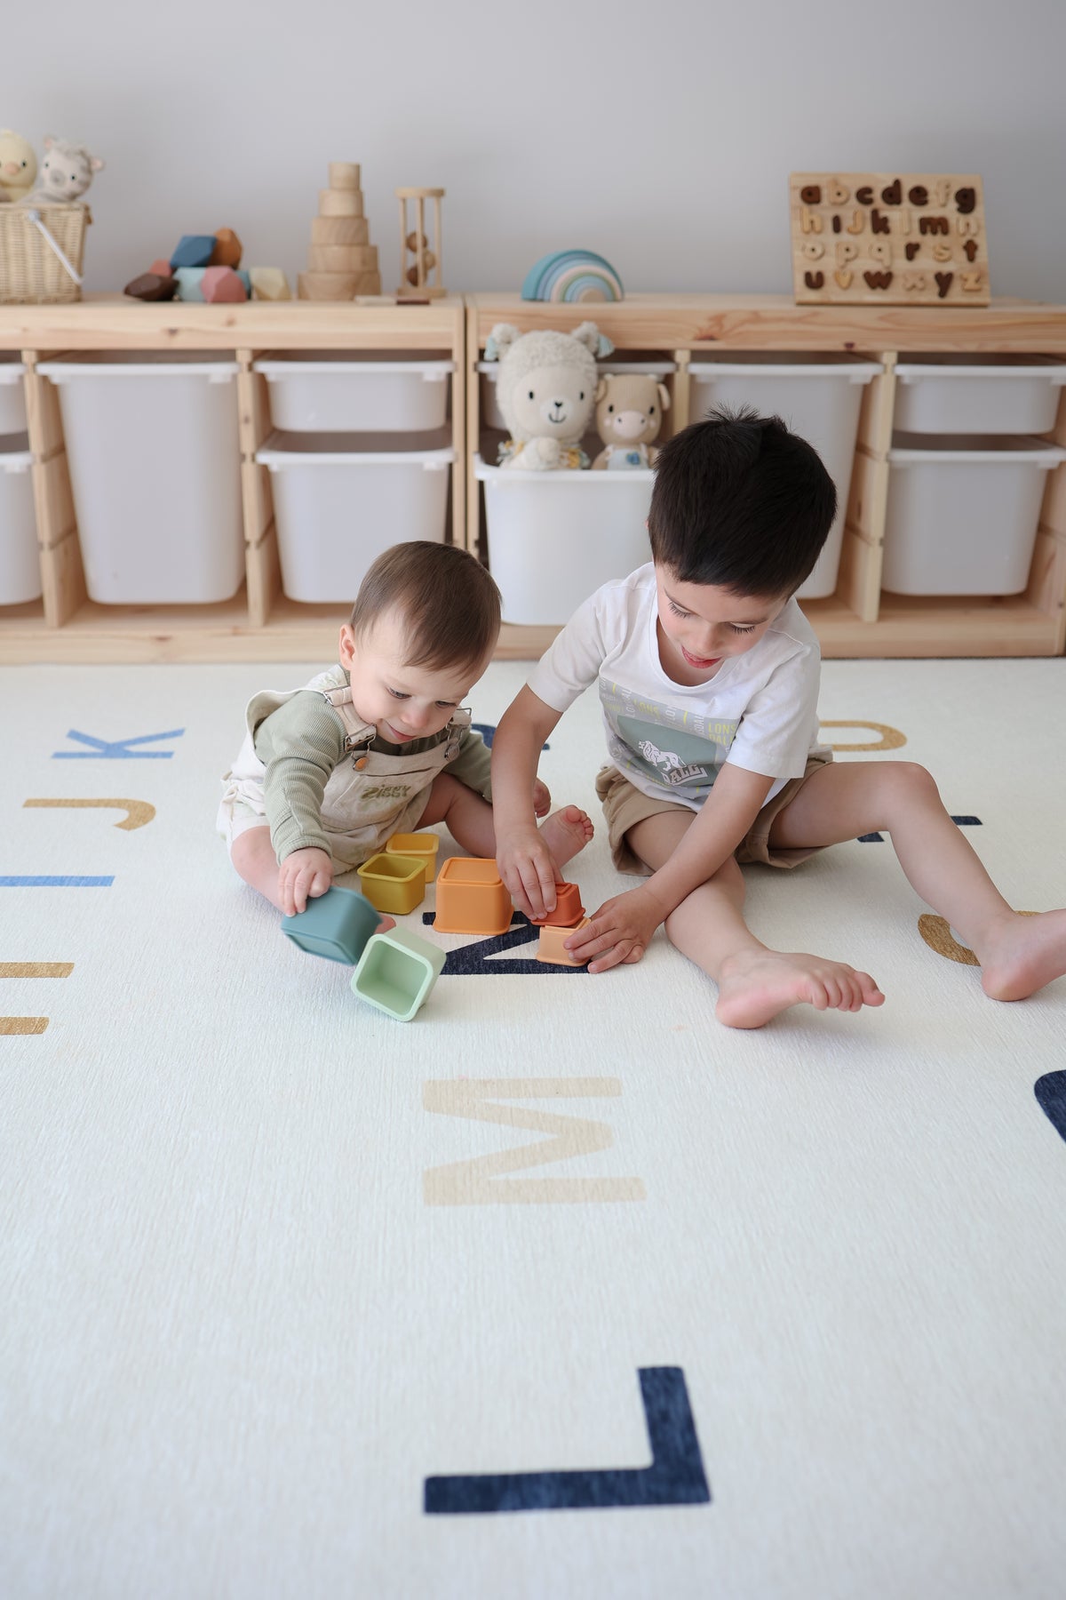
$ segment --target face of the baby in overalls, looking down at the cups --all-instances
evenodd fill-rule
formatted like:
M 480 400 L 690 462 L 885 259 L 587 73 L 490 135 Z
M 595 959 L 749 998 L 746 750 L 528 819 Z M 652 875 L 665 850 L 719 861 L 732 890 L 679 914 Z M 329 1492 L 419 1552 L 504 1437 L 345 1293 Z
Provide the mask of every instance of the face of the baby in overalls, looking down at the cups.
M 360 638 L 340 629 L 340 666 L 352 677 L 352 704 L 390 744 L 428 739 L 447 726 L 457 706 L 484 672 L 475 666 L 411 667 L 406 664 L 406 626 L 398 610 L 379 616 Z

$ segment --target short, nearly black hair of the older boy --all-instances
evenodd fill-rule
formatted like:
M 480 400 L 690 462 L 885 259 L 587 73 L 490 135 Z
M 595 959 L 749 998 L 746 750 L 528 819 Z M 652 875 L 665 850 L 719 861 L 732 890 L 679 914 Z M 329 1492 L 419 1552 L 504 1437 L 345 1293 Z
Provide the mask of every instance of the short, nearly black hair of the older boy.
M 780 416 L 710 411 L 662 446 L 647 531 L 657 565 L 737 595 L 799 589 L 836 515 L 818 453 Z

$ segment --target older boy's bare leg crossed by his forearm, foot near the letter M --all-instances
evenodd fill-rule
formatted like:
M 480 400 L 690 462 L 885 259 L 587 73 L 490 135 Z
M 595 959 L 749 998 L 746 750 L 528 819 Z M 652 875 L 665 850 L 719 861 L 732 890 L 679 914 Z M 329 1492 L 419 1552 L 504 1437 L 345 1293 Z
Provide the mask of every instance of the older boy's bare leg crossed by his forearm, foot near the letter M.
M 690 818 L 660 813 L 628 832 L 633 851 L 652 870 L 681 843 Z M 884 995 L 869 973 L 802 950 L 770 950 L 743 920 L 745 882 L 735 861 L 692 890 L 666 917 L 666 938 L 718 984 L 714 1014 L 727 1027 L 762 1027 L 793 1005 L 858 1011 Z

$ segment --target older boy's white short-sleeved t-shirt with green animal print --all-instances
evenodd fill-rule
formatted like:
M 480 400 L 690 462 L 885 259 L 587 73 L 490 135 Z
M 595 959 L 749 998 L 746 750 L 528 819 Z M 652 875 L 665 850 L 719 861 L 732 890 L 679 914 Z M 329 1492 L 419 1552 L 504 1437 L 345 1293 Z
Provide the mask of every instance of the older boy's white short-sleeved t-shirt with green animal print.
M 794 600 L 713 678 L 674 683 L 658 659 L 655 566 L 604 584 L 534 667 L 529 688 L 563 712 L 599 680 L 607 750 L 646 795 L 697 811 L 729 762 L 772 778 L 772 798 L 818 749 L 820 651 Z

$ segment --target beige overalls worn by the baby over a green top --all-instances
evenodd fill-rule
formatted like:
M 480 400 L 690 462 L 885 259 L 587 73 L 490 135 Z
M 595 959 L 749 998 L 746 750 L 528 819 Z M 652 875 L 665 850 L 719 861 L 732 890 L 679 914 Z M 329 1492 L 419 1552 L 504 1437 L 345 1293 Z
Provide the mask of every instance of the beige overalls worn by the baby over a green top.
M 454 762 L 462 734 L 470 726 L 470 710 L 455 709 L 446 738 L 417 755 L 398 750 L 384 755 L 371 750 L 377 738 L 374 723 L 363 722 L 352 704 L 344 667 L 329 667 L 304 685 L 316 690 L 332 706 L 345 728 L 344 758 L 334 768 L 321 803 L 321 826 L 334 861 L 360 867 L 384 850 L 390 834 L 406 834 L 417 826 L 433 779 Z M 300 690 L 262 690 L 245 710 L 246 733 L 237 760 L 222 778 L 217 829 L 233 848 L 233 838 L 267 822 L 264 776 L 267 768 L 256 755 L 254 730 Z

